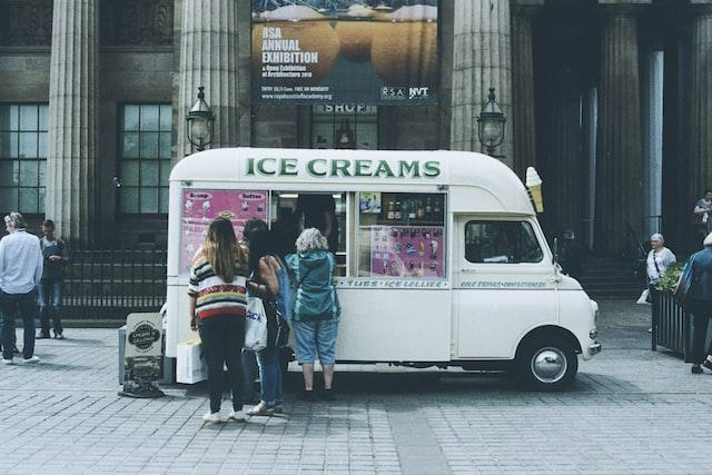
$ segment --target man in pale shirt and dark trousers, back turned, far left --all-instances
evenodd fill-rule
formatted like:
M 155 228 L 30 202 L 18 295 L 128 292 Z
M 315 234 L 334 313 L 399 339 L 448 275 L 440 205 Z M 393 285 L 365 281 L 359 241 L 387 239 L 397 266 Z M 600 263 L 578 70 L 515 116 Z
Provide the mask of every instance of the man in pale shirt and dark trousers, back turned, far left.
M 0 321 L 2 363 L 12 365 L 14 313 L 19 308 L 24 326 L 23 363 L 37 363 L 34 317 L 38 314 L 37 286 L 42 278 L 42 249 L 37 236 L 28 234 L 24 218 L 11 212 L 9 236 L 0 240 Z

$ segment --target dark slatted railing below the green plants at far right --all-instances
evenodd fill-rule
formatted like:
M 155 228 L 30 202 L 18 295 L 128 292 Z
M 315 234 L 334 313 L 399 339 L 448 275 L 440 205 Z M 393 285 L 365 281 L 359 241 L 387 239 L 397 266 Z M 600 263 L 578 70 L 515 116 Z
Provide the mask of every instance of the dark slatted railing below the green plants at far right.
M 684 308 L 678 305 L 666 291 L 653 293 L 653 333 L 652 350 L 663 346 L 672 353 L 681 355 L 685 362 L 691 360 L 692 318 Z

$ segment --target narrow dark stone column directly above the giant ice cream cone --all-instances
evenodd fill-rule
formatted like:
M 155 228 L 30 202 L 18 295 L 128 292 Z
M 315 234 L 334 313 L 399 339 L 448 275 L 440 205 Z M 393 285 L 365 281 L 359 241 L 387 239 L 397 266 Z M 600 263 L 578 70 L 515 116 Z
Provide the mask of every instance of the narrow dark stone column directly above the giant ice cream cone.
M 543 0 L 517 0 L 512 16 L 512 132 L 514 171 L 520 177 L 536 165 L 534 52 L 532 23 Z

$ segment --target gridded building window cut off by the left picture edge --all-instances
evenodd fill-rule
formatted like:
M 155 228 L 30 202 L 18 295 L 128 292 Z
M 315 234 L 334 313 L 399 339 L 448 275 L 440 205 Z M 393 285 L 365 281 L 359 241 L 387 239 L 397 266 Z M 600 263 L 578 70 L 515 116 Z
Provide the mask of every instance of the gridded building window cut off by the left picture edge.
M 44 212 L 46 103 L 0 103 L 0 211 Z

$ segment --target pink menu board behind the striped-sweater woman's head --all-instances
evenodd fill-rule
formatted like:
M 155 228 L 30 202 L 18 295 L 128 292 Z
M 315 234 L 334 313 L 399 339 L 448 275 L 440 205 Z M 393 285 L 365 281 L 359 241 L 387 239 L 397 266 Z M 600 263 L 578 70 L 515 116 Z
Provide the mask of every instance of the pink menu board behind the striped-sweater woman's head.
M 248 219 L 267 221 L 267 191 L 186 189 L 182 192 L 180 220 L 180 268 L 190 269 L 215 218 L 233 222 L 235 236 L 243 238 Z

